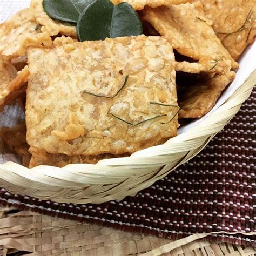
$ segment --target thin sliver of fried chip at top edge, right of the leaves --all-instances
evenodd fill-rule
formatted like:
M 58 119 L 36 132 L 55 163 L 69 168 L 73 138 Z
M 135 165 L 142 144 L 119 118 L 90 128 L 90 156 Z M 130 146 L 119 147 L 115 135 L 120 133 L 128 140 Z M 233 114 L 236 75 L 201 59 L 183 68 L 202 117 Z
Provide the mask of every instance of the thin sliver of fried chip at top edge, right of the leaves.
M 111 0 L 111 2 L 116 5 L 121 2 L 127 2 L 131 4 L 134 10 L 142 10 L 145 6 L 156 8 L 161 5 L 181 4 L 191 1 L 192 0 Z

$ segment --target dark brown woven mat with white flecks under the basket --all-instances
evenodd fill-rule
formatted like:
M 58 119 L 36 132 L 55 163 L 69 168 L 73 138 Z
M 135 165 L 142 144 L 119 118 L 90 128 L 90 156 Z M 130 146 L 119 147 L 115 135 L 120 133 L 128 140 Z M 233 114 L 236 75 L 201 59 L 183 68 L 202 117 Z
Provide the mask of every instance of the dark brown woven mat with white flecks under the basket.
M 256 232 L 255 104 L 256 90 L 199 156 L 134 198 L 100 205 L 57 204 L 1 190 L 0 203 L 171 239 L 203 232 Z M 256 246 L 255 235 L 208 239 Z

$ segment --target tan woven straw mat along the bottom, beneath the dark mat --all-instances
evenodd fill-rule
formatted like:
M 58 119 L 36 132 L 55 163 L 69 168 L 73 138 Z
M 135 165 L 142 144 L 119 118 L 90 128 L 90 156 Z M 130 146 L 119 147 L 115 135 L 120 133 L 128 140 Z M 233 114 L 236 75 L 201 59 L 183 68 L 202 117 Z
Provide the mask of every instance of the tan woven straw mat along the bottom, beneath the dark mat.
M 17 255 L 138 255 L 169 244 L 171 240 L 127 233 L 72 220 L 47 217 L 15 208 L 0 208 L 0 254 Z M 196 241 L 162 255 L 249 256 L 256 249 Z M 157 254 L 151 254 L 157 255 Z

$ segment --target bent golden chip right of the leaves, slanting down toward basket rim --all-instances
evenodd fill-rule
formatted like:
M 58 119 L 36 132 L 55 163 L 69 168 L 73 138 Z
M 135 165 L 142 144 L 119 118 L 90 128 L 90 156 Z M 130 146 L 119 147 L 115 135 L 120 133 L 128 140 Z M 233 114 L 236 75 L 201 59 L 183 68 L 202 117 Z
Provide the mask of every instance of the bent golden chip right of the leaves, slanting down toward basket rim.
M 193 64 L 194 73 L 207 71 L 224 74 L 231 67 L 238 68 L 238 64 L 215 35 L 212 22 L 205 17 L 200 2 L 154 9 L 146 6 L 142 10 L 142 18 L 150 22 L 160 35 L 169 38 L 173 49 L 198 61 Z M 191 65 L 184 62 L 177 68 L 188 71 Z

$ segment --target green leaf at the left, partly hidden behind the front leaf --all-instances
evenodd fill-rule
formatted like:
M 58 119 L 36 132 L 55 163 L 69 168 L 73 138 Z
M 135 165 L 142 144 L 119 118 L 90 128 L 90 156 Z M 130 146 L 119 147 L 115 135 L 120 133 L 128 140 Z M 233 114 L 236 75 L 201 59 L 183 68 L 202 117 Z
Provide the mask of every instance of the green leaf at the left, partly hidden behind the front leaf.
M 95 0 L 43 0 L 43 8 L 51 18 L 77 23 L 79 15 Z

